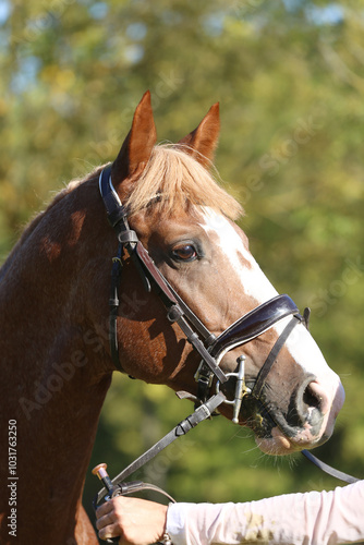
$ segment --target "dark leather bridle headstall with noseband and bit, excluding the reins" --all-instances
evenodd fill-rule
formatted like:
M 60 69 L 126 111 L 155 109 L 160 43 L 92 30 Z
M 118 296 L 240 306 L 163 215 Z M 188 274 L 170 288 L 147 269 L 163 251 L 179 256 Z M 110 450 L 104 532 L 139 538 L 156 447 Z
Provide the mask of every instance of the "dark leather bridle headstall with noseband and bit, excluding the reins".
M 214 376 L 217 378 L 219 385 L 221 385 L 225 384 L 230 376 L 234 375 L 231 373 L 226 374 L 219 367 L 219 362 L 226 352 L 256 339 L 263 332 L 270 329 L 277 322 L 288 316 L 292 316 L 262 366 L 253 389 L 243 386 L 244 391 L 240 393 L 241 399 L 244 393 L 248 393 L 259 399 L 267 375 L 279 351 L 293 328 L 300 323 L 307 322 L 307 315 L 304 314 L 304 316 L 301 316 L 299 308 L 288 295 L 277 295 L 239 318 L 221 335 L 216 337 L 205 327 L 189 305 L 173 290 L 168 280 L 156 267 L 148 252 L 138 240 L 136 232 L 129 227 L 128 211 L 112 185 L 111 166 L 106 167 L 101 171 L 99 177 L 99 189 L 109 223 L 116 230 L 119 241 L 117 256 L 112 259 L 111 294 L 109 300 L 110 351 L 116 367 L 123 372 L 119 359 L 117 318 L 123 255 L 126 251 L 135 264 L 147 292 L 150 292 L 151 288 L 154 289 L 166 307 L 168 320 L 171 324 L 175 323 L 182 329 L 186 340 L 202 358 L 202 362 L 195 375 L 198 383 L 196 396 L 197 404 L 207 400 Z M 240 375 L 241 384 L 244 383 L 242 372 L 243 364 L 244 360 L 242 358 L 240 359 L 240 370 L 236 373 L 236 375 Z M 192 397 L 191 395 L 189 396 Z M 238 404 L 239 401 L 236 398 L 235 405 Z M 236 411 L 239 412 L 238 407 L 235 407 L 235 412 Z

